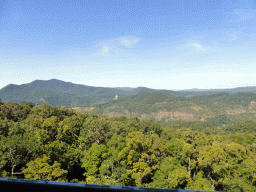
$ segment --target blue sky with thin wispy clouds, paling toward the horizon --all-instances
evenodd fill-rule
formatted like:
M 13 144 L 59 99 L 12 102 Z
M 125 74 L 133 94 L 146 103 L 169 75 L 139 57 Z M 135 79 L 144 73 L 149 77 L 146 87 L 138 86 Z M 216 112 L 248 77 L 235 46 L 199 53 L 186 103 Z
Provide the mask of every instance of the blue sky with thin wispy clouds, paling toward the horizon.
M 0 0 L 0 89 L 256 86 L 254 0 Z

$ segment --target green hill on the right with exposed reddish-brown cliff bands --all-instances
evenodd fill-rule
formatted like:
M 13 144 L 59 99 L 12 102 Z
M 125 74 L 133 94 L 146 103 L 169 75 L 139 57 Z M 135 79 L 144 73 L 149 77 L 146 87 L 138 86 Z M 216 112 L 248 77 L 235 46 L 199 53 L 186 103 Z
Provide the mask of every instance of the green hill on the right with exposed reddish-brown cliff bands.
M 81 113 L 106 114 L 153 119 L 161 123 L 179 120 L 202 121 L 212 126 L 225 126 L 242 120 L 256 120 L 255 93 L 215 93 L 193 97 L 161 92 L 142 92 L 121 96 L 117 100 L 91 107 L 73 108 Z

